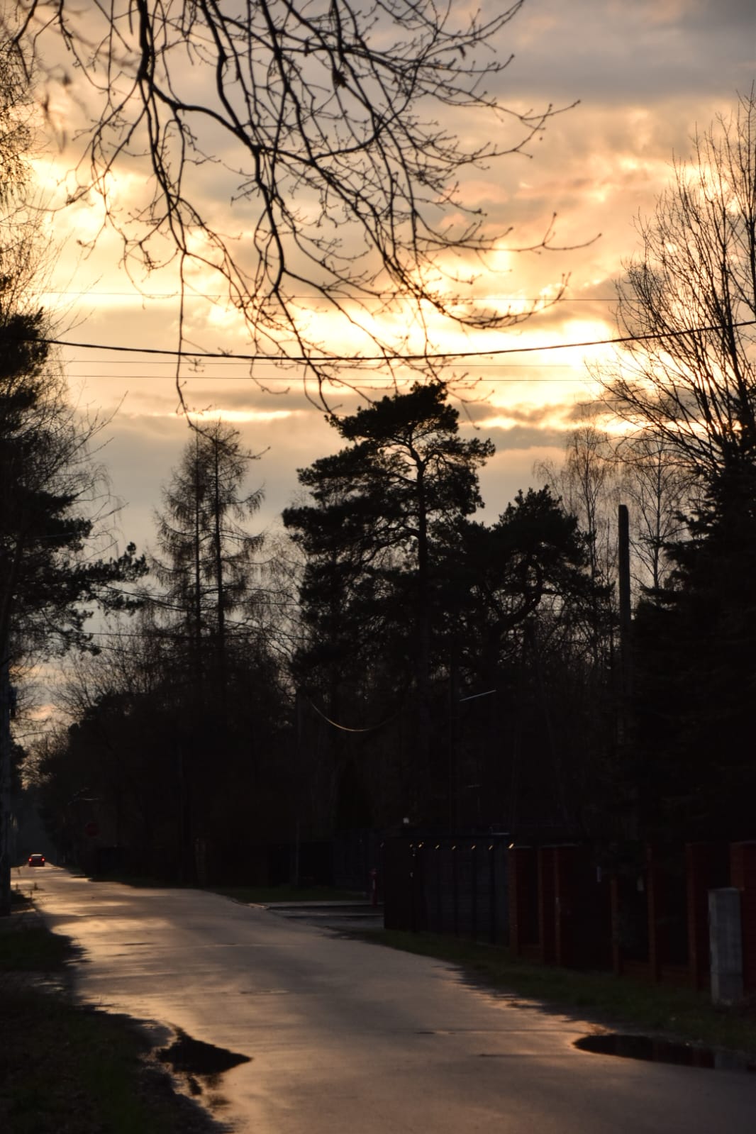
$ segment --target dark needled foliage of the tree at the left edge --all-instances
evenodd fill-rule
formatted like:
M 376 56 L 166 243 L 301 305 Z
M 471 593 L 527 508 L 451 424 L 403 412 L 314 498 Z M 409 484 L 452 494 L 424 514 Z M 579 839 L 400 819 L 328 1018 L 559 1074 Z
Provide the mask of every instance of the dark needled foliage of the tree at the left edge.
M 0 346 L 8 328 L 12 337 L 8 353 L 0 350 L 0 633 L 17 654 L 87 644 L 84 624 L 93 604 L 127 608 L 131 600 L 117 584 L 145 570 L 133 544 L 117 559 L 88 552 L 97 491 L 86 450 L 91 430 L 46 369 L 48 348 L 36 337 L 41 320 L 12 316 L 0 327 Z M 19 323 L 26 346 L 15 338 Z

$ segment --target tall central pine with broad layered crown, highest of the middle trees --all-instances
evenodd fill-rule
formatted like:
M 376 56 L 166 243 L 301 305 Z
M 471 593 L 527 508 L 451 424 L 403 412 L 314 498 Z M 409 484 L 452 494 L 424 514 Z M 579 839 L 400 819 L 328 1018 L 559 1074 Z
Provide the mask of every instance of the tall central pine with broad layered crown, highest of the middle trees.
M 314 648 L 333 651 L 329 711 L 339 712 L 339 671 L 396 643 L 398 628 L 392 659 L 416 697 L 421 776 L 431 743 L 439 549 L 482 505 L 477 468 L 493 452 L 491 441 L 460 438 L 458 418 L 439 383 L 331 417 L 350 445 L 299 471 L 315 503 L 283 513 L 307 555 L 301 601 Z

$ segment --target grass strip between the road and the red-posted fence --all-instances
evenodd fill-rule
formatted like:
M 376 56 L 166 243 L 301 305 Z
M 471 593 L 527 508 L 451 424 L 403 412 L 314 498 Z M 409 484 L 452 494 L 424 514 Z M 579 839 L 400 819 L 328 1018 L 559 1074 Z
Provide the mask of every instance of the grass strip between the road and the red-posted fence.
M 720 1007 L 706 992 L 651 984 L 613 973 L 534 965 L 494 947 L 439 933 L 359 930 L 350 936 L 459 966 L 478 985 L 537 1000 L 612 1029 L 663 1033 L 689 1043 L 756 1057 L 756 1002 Z

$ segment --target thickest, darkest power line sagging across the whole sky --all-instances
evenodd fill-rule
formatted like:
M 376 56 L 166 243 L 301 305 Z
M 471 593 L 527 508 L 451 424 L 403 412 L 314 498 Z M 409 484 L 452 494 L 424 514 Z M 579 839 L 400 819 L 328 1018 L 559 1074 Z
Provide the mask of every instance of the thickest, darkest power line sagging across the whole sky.
M 756 319 L 742 320 L 741 322 L 731 323 L 731 327 L 754 327 L 756 325 Z M 74 347 L 77 350 L 113 350 L 119 354 L 145 354 L 145 355 L 162 355 L 170 358 L 186 358 L 192 361 L 195 358 L 215 358 L 226 359 L 235 362 L 263 362 L 263 363 L 284 363 L 284 364 L 303 364 L 303 365 L 329 365 L 333 363 L 343 363 L 352 366 L 360 366 L 365 363 L 375 365 L 376 363 L 385 365 L 389 362 L 443 362 L 453 358 L 491 358 L 493 356 L 511 355 L 511 354 L 534 354 L 536 352 L 551 352 L 551 350 L 570 350 L 585 347 L 603 347 L 603 346 L 619 346 L 625 342 L 645 342 L 651 340 L 660 339 L 679 339 L 683 338 L 686 335 L 702 335 L 708 331 L 721 331 L 723 325 L 721 323 L 715 323 L 710 327 L 687 327 L 680 331 L 649 331 L 646 335 L 623 335 L 617 336 L 611 339 L 588 339 L 581 342 L 552 342 L 547 346 L 530 346 L 530 347 L 501 347 L 493 350 L 443 350 L 443 352 L 430 352 L 424 354 L 404 354 L 404 355 L 284 355 L 284 356 L 272 356 L 272 355 L 261 355 L 261 354 L 231 354 L 228 350 L 169 350 L 163 347 L 127 347 L 121 345 L 111 345 L 107 342 L 70 342 L 67 339 L 52 339 L 52 338 L 31 338 L 31 337 L 18 337 L 15 339 L 8 339 L 7 341 L 16 342 L 46 342 L 49 346 L 59 347 Z

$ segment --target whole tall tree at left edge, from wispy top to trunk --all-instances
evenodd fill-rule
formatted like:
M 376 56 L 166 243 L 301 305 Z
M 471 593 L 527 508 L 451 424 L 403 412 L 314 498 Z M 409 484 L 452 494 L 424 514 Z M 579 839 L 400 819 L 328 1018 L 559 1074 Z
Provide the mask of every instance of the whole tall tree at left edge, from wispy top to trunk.
M 7 44 L 5 45 L 7 49 Z M 34 303 L 39 236 L 28 208 L 24 90 L 0 50 L 0 913 L 10 908 L 11 669 L 31 658 L 86 646 L 94 604 L 124 609 L 117 584 L 144 561 L 129 544 L 99 558 L 107 485 L 92 460 L 97 423 L 68 401 Z

